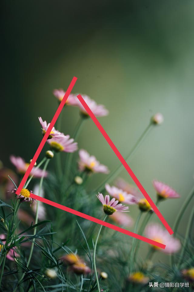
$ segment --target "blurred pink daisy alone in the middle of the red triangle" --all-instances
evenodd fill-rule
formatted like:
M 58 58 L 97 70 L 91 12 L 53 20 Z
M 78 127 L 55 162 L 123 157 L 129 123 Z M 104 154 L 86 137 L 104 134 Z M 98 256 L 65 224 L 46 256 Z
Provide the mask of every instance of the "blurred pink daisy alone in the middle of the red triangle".
M 79 150 L 78 165 L 81 171 L 109 173 L 107 166 L 100 164 L 100 162 L 96 160 L 95 156 L 90 156 L 84 149 Z

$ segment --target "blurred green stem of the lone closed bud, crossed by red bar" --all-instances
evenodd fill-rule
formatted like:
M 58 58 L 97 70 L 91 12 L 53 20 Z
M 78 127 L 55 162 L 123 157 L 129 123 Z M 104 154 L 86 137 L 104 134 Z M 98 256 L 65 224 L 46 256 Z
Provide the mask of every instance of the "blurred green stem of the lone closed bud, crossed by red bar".
M 126 161 L 129 160 L 129 158 L 132 157 L 132 155 L 135 153 L 135 151 L 137 150 L 137 148 L 139 147 L 139 145 L 141 144 L 141 142 L 143 141 L 143 139 L 146 137 L 146 135 L 149 133 L 149 131 L 151 130 L 153 126 L 153 123 L 150 122 L 150 124 L 146 127 L 146 129 L 144 130 L 144 132 L 141 134 L 141 136 L 139 137 L 139 139 L 137 140 L 137 142 L 135 143 L 135 145 L 133 146 L 133 148 L 131 149 L 131 151 L 129 152 L 128 156 L 125 158 Z M 104 180 L 104 182 L 98 186 L 98 188 L 96 188 L 94 190 L 94 193 L 96 192 L 101 192 L 102 189 L 104 188 L 104 185 L 110 181 L 112 181 L 115 177 L 117 177 L 117 175 L 119 175 L 119 173 L 122 171 L 123 169 L 123 165 L 119 165 L 112 173 L 110 173 L 106 179 Z

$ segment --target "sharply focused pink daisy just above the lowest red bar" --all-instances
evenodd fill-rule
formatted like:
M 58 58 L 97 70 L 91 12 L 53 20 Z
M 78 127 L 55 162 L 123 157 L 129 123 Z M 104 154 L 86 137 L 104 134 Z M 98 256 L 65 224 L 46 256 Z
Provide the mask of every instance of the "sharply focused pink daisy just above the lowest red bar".
M 105 198 L 103 197 L 103 195 L 101 193 L 98 193 L 98 195 L 96 195 L 98 197 L 98 199 L 100 200 L 100 202 L 103 205 L 103 210 L 105 212 L 106 215 L 112 215 L 114 212 L 128 212 L 129 207 L 126 207 L 122 204 L 118 204 L 119 201 L 115 201 L 115 198 L 113 198 L 110 201 L 110 197 L 109 195 L 105 195 Z

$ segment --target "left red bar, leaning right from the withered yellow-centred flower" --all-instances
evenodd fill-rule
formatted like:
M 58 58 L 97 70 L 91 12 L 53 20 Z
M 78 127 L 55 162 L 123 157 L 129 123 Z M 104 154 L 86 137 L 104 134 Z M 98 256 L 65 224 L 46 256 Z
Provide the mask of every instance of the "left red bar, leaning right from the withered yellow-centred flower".
M 58 109 L 56 110 L 56 113 L 55 113 L 54 117 L 52 118 L 52 121 L 51 121 L 51 123 L 50 123 L 50 125 L 49 125 L 49 127 L 48 127 L 48 129 L 47 129 L 47 131 L 46 131 L 46 133 L 45 133 L 45 135 L 44 135 L 43 138 L 42 138 L 42 141 L 40 142 L 40 145 L 38 146 L 38 149 L 36 150 L 36 152 L 35 152 L 35 154 L 34 154 L 34 157 L 32 158 L 32 161 L 31 161 L 30 165 L 28 166 L 28 169 L 27 169 L 27 171 L 26 171 L 24 177 L 22 178 L 22 181 L 20 182 L 20 184 L 19 184 L 19 186 L 18 186 L 18 189 L 17 189 L 17 191 L 16 191 L 16 194 L 17 194 L 17 195 L 20 194 L 22 188 L 24 187 L 24 184 L 25 184 L 25 182 L 27 181 L 28 176 L 29 176 L 29 174 L 30 174 L 30 172 L 31 172 L 31 170 L 32 170 L 32 168 L 33 168 L 33 166 L 35 165 L 35 162 L 36 162 L 36 160 L 37 160 L 37 158 L 38 158 L 40 152 L 42 151 L 42 148 L 44 147 L 44 144 L 46 143 L 46 140 L 47 140 L 47 138 L 49 137 L 49 134 L 50 134 L 50 132 L 52 131 L 52 128 L 54 127 L 55 122 L 56 122 L 56 120 L 58 119 L 59 114 L 60 114 L 60 112 L 62 111 L 62 109 L 63 109 L 63 107 L 64 107 L 64 105 L 65 105 L 65 102 L 66 102 L 66 100 L 68 99 L 69 94 L 71 93 L 72 88 L 73 88 L 74 85 L 75 85 L 76 80 L 77 80 L 77 78 L 74 76 L 73 79 L 72 79 L 72 81 L 71 81 L 71 83 L 69 84 L 69 87 L 68 87 L 67 91 L 65 92 L 65 95 L 64 95 L 62 101 L 61 101 L 60 104 L 59 104 Z

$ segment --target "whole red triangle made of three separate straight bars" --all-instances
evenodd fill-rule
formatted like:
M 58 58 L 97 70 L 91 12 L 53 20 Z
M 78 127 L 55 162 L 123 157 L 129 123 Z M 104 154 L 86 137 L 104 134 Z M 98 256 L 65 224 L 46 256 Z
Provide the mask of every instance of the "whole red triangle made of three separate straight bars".
M 52 131 L 52 128 L 54 127 L 55 122 L 57 121 L 57 119 L 59 117 L 59 114 L 61 113 L 62 108 L 64 107 L 65 102 L 68 99 L 69 94 L 71 93 L 71 91 L 72 91 L 72 89 L 73 89 L 76 81 L 77 81 L 77 77 L 74 76 L 73 79 L 72 79 L 72 81 L 71 81 L 71 83 L 70 83 L 70 85 L 69 85 L 69 87 L 68 87 L 68 89 L 67 89 L 67 91 L 65 92 L 65 95 L 64 95 L 62 101 L 59 104 L 58 109 L 56 110 L 56 113 L 55 113 L 54 117 L 52 118 L 52 121 L 51 121 L 51 123 L 50 123 L 50 125 L 49 125 L 49 127 L 48 127 L 48 129 L 47 129 L 47 131 L 45 133 L 45 135 L 42 138 L 42 141 L 40 142 L 40 145 L 38 146 L 38 149 L 36 150 L 36 152 L 34 154 L 34 157 L 32 158 L 32 161 L 31 161 L 30 165 L 28 166 L 28 169 L 25 172 L 24 177 L 22 178 L 22 181 L 20 182 L 20 184 L 18 186 L 18 189 L 16 191 L 16 194 L 17 195 L 20 194 L 22 188 L 24 187 L 25 182 L 27 181 L 28 176 L 29 176 L 29 174 L 30 174 L 33 166 L 35 165 L 35 162 L 36 162 L 36 160 L 37 160 L 40 152 L 42 151 L 42 148 L 44 147 L 44 144 L 46 143 L 46 140 L 47 140 L 50 132 Z M 131 176 L 131 178 L 133 179 L 133 181 L 135 182 L 135 184 L 137 185 L 137 187 L 139 188 L 139 190 L 142 192 L 142 194 L 144 195 L 144 197 L 146 198 L 146 200 L 149 202 L 149 204 L 151 205 L 152 209 L 154 210 L 154 212 L 156 213 L 156 215 L 158 216 L 158 218 L 162 222 L 162 224 L 165 226 L 165 228 L 168 230 L 168 232 L 170 234 L 172 234 L 173 231 L 172 231 L 171 227 L 166 222 L 166 220 L 164 219 L 164 217 L 162 216 L 162 214 L 160 213 L 160 211 L 158 210 L 158 208 L 156 207 L 156 205 L 154 204 L 154 202 L 152 201 L 152 199 L 149 197 L 148 193 L 143 188 L 143 186 L 141 185 L 141 183 L 139 182 L 138 178 L 135 176 L 135 174 L 133 173 L 133 171 L 131 170 L 131 168 L 129 167 L 129 165 L 127 164 L 127 162 L 125 161 L 125 159 L 122 157 L 121 153 L 116 148 L 115 144 L 112 142 L 112 140 L 110 139 L 110 137 L 108 136 L 108 134 L 106 133 L 106 131 L 104 130 L 104 128 L 102 127 L 102 125 L 99 123 L 99 121 L 97 120 L 97 118 L 95 117 L 95 115 L 92 113 L 92 111 L 90 110 L 90 108 L 88 107 L 88 105 L 85 103 L 85 101 L 82 98 L 82 96 L 79 94 L 79 95 L 77 95 L 77 97 L 78 97 L 79 101 L 81 102 L 81 104 L 83 105 L 83 107 L 85 108 L 85 110 L 87 111 L 87 113 L 89 114 L 89 116 L 91 117 L 92 121 L 95 123 L 96 127 L 98 127 L 99 131 L 101 132 L 101 134 L 103 135 L 103 137 L 105 138 L 105 140 L 107 141 L 107 143 L 110 145 L 110 147 L 112 148 L 112 150 L 114 151 L 114 153 L 116 154 L 116 156 L 121 161 L 122 165 L 125 167 L 125 169 L 129 173 L 129 175 Z M 104 221 L 102 221 L 100 219 L 97 219 L 95 217 L 89 216 L 87 214 L 84 214 L 82 212 L 76 211 L 74 209 L 68 208 L 66 206 L 60 205 L 60 204 L 58 204 L 56 202 L 53 202 L 53 201 L 50 201 L 48 199 L 42 198 L 42 197 L 37 196 L 35 194 L 31 194 L 30 197 L 33 198 L 33 199 L 39 200 L 39 201 L 41 201 L 43 203 L 52 205 L 52 206 L 54 206 L 56 208 L 62 209 L 64 211 L 66 211 L 66 212 L 70 212 L 70 213 L 72 213 L 72 214 L 74 214 L 76 216 L 85 218 L 85 219 L 90 220 L 92 222 L 98 223 L 100 225 L 103 225 L 103 226 L 106 226 L 108 228 L 114 229 L 114 230 L 119 231 L 121 233 L 124 233 L 124 234 L 127 234 L 129 236 L 135 237 L 136 239 L 142 240 L 142 241 L 147 242 L 149 244 L 158 246 L 158 247 L 160 247 L 162 249 L 165 249 L 165 247 L 166 247 L 166 245 L 164 245 L 162 243 L 159 243 L 159 242 L 157 242 L 155 240 L 152 240 L 152 239 L 149 239 L 147 237 L 138 235 L 136 233 L 133 233 L 133 232 L 131 232 L 129 230 L 126 230 L 126 229 L 123 229 L 121 227 L 115 226 L 115 225 L 110 224 L 108 222 L 104 222 Z

